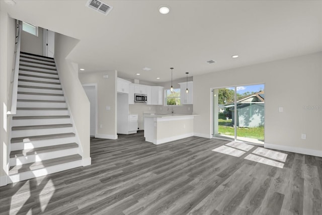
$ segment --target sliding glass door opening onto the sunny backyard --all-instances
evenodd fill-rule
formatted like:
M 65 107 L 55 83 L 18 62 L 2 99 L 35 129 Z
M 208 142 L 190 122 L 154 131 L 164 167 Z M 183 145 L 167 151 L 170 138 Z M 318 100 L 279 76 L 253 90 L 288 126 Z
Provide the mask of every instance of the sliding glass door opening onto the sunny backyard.
M 213 136 L 264 144 L 264 84 L 212 90 Z

